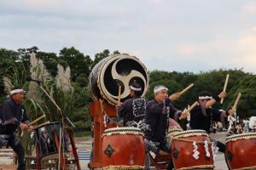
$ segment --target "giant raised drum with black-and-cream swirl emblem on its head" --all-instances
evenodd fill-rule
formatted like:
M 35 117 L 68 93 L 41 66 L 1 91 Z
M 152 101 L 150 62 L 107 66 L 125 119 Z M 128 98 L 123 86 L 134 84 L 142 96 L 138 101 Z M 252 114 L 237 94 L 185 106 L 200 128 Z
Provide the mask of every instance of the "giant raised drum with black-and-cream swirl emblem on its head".
M 109 104 L 129 99 L 130 84 L 137 81 L 142 85 L 144 96 L 148 90 L 148 72 L 143 63 L 128 54 L 113 54 L 102 59 L 90 72 L 89 88 L 93 99 L 106 99 Z

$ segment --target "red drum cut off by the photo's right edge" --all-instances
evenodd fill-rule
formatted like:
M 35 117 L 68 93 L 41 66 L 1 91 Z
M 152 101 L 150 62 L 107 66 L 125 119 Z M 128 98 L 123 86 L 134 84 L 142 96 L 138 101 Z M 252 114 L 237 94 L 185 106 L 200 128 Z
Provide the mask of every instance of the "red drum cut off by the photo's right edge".
M 256 133 L 227 137 L 225 156 L 230 169 L 256 169 Z

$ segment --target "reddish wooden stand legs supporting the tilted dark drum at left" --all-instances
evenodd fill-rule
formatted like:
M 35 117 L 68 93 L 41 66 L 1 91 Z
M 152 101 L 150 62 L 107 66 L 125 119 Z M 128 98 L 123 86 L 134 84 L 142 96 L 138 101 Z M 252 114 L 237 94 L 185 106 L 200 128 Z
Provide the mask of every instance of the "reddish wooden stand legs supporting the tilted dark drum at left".
M 74 142 L 74 139 L 73 139 L 72 129 L 69 128 L 69 127 L 65 127 L 65 130 L 68 133 L 68 137 L 69 137 L 70 143 L 72 145 L 72 151 L 73 151 L 74 159 L 69 160 L 69 162 L 66 161 L 66 158 L 64 156 L 64 152 L 63 152 L 63 150 L 61 150 L 61 147 L 60 147 L 62 145 L 61 142 L 60 142 L 60 137 L 59 137 L 58 133 L 55 131 L 54 132 L 55 133 L 55 145 L 57 146 L 58 153 L 61 153 L 61 156 L 59 156 L 59 160 L 60 160 L 60 165 L 59 166 L 61 167 L 61 170 L 65 170 L 66 167 L 67 167 L 67 164 L 76 164 L 77 170 L 81 170 L 80 164 L 79 164 L 79 156 L 78 156 L 78 153 L 77 153 L 77 148 L 75 146 L 75 142 Z M 36 156 L 37 169 L 41 170 L 42 169 L 42 164 L 41 164 L 41 159 L 40 159 L 40 156 L 39 156 L 38 145 L 36 146 L 36 152 L 37 152 L 37 156 Z

